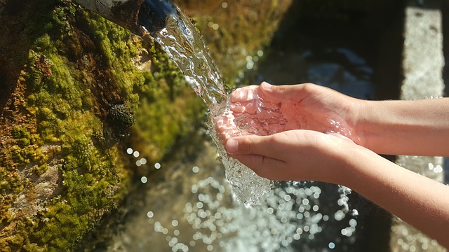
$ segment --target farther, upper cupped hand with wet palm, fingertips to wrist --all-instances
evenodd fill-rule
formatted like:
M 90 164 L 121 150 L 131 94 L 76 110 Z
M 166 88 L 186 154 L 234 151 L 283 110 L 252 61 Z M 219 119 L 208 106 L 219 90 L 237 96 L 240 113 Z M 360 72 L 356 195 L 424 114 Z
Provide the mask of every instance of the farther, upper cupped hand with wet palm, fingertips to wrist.
M 250 122 L 262 122 L 265 131 L 256 132 L 258 135 L 315 130 L 340 133 L 358 143 L 356 121 L 360 107 L 361 100 L 311 83 L 276 86 L 264 82 L 231 94 L 231 111 L 236 118 L 244 114 L 249 115 Z M 273 114 L 281 114 L 281 119 L 269 123 Z

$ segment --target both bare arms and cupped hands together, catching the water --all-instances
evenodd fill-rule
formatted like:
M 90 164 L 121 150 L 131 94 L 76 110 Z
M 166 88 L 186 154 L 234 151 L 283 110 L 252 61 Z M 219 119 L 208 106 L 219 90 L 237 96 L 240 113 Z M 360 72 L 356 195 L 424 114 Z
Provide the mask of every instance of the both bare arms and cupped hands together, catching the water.
M 262 83 L 235 90 L 231 109 L 257 116 L 260 99 L 280 106 L 286 127 L 234 137 L 222 123 L 229 155 L 267 179 L 348 186 L 449 247 L 449 187 L 377 154 L 449 156 L 449 99 L 364 101 L 310 83 Z

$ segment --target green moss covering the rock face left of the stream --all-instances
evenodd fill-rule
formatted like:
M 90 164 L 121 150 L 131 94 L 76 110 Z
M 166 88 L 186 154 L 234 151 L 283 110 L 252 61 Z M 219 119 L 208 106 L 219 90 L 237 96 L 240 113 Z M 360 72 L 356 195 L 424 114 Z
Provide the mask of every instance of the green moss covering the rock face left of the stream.
M 150 162 L 191 132 L 205 110 L 152 41 L 67 1 L 41 2 L 29 22 L 42 29 L 32 31 L 37 35 L 20 77 L 26 119 L 11 128 L 11 144 L 0 160 L 0 221 L 6 227 L 0 251 L 68 251 L 123 199 L 133 169 L 120 144 L 107 139 L 108 127 L 114 127 L 107 119 L 111 107 L 130 108 L 132 138 L 145 142 L 141 153 Z M 135 67 L 141 53 L 152 58 L 154 73 Z M 54 160 L 62 164 L 60 193 L 48 199 L 47 210 L 9 214 L 15 197 L 32 183 L 20 178 L 19 169 L 34 167 L 32 176 L 41 176 Z

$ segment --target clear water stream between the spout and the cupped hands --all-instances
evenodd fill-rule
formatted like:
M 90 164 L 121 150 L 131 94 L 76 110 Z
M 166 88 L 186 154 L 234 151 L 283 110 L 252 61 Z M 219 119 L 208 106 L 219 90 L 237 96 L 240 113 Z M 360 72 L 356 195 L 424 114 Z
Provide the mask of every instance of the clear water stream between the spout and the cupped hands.
M 227 92 L 217 66 L 187 16 L 176 8 L 177 15 L 168 15 L 166 26 L 158 31 L 142 27 L 152 36 L 184 74 L 187 83 L 203 99 L 210 113 L 218 115 L 226 109 Z

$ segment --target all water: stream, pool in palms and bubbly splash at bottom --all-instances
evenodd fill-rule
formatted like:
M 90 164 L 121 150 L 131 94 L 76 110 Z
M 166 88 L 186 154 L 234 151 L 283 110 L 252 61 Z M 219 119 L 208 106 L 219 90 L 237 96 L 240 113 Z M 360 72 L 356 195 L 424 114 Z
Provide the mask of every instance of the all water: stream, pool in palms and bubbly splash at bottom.
M 126 232 L 117 235 L 114 248 L 109 251 L 164 250 L 167 245 L 172 251 L 347 250 L 355 241 L 358 215 L 347 204 L 349 188 L 311 181 L 271 183 L 227 157 L 215 123 L 225 120 L 230 125 L 228 137 L 232 137 L 274 134 L 283 130 L 286 119 L 279 112 L 280 104 L 266 104 L 260 97 L 255 97 L 257 112 L 267 113 L 268 120 L 258 120 L 254 113 L 231 111 L 229 94 L 206 46 L 189 18 L 179 9 L 176 13 L 170 15 L 163 29 L 152 31 L 142 27 L 142 31 L 170 55 L 208 106 L 208 134 L 218 147 L 227 181 L 220 179 L 221 165 L 211 161 L 204 166 L 215 169 L 190 163 L 172 164 L 177 167 L 173 174 L 189 174 L 184 174 L 182 179 L 175 176 L 178 179 L 173 183 L 149 191 L 147 206 L 151 207 L 146 215 L 135 219 Z M 216 118 L 220 120 L 216 122 Z M 214 155 L 210 148 L 206 150 L 209 151 L 204 151 L 204 155 L 209 158 Z M 161 164 L 154 167 L 159 169 Z M 142 183 L 147 183 L 147 178 L 142 177 Z M 332 203 L 321 202 L 322 194 L 332 197 Z M 236 205 L 232 198 L 253 207 Z

